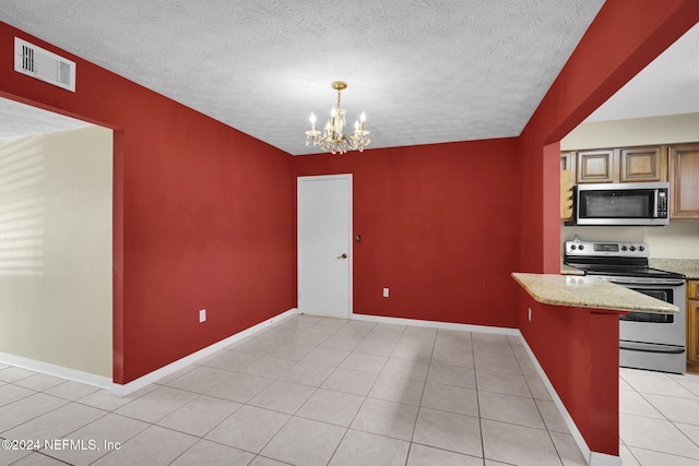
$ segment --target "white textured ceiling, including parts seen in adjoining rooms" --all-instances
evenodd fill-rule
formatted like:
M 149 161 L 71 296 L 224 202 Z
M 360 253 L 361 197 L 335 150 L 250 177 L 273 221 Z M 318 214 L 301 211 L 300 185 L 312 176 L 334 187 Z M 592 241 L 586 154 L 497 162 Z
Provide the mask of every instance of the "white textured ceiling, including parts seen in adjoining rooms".
M 310 111 L 322 122 L 333 105 L 333 80 L 348 83 L 342 103 L 350 123 L 366 111 L 369 148 L 517 136 L 602 3 L 3 0 L 0 19 L 298 155 L 318 152 L 305 146 L 304 132 Z M 659 77 L 664 87 L 678 79 L 688 92 L 699 89 L 699 34 L 687 36 L 677 55 L 692 70 L 642 81 L 643 101 L 661 95 L 649 91 Z M 80 79 L 79 67 L 78 88 Z M 623 107 L 640 100 L 631 94 Z M 672 112 L 699 111 L 688 100 L 699 103 L 672 100 Z M 33 121 L 51 124 L 35 113 L 15 129 L 22 118 L 5 115 L 8 105 L 16 107 L 0 105 L 0 138 Z M 600 118 L 615 111 L 609 104 Z M 670 110 L 659 104 L 654 111 Z M 61 128 L 58 120 L 57 129 L 76 122 Z

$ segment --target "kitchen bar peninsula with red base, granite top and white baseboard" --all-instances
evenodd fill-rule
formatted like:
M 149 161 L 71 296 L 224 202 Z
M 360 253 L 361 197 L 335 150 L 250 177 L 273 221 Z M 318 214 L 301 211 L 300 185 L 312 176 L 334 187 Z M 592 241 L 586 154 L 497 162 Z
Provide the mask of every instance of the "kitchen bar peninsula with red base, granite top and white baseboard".
M 512 273 L 519 327 L 588 464 L 619 458 L 619 315 L 675 313 L 667 302 L 599 278 Z

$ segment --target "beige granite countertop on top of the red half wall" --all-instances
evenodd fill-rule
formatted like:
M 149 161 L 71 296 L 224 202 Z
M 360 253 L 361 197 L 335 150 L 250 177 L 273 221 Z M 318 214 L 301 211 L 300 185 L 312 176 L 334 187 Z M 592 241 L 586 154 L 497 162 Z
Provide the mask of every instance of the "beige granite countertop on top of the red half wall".
M 536 301 L 544 304 L 608 309 L 613 311 L 679 312 L 676 306 L 668 302 L 600 278 L 518 272 L 513 272 L 512 277 Z

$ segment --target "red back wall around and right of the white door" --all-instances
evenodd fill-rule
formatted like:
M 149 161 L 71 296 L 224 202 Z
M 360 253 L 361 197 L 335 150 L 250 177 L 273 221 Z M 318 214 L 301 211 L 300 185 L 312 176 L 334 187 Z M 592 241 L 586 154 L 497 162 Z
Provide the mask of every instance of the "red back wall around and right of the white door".
M 502 139 L 294 158 L 296 176 L 353 174 L 355 313 L 517 326 L 516 148 Z

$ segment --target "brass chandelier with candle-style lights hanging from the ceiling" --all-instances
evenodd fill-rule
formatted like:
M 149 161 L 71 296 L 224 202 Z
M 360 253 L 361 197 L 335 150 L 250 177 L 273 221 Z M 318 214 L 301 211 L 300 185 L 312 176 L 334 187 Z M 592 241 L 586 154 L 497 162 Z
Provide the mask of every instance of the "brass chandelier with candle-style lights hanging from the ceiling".
M 364 147 L 371 142 L 369 132 L 364 129 L 367 116 L 363 111 L 359 119 L 355 121 L 353 135 L 343 134 L 342 130 L 347 122 L 345 120 L 345 109 L 340 107 L 340 93 L 347 88 L 347 83 L 333 81 L 330 83 L 330 87 L 337 91 L 337 106 L 330 110 L 330 120 L 325 123 L 322 135 L 320 131 L 316 130 L 316 116 L 312 112 L 310 113 L 312 128 L 310 131 L 306 131 L 306 145 L 308 146 L 312 142 L 313 145 L 319 145 L 323 151 L 333 154 L 344 154 L 348 150 L 363 152 Z

